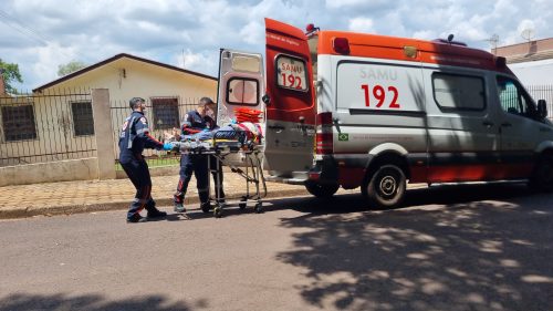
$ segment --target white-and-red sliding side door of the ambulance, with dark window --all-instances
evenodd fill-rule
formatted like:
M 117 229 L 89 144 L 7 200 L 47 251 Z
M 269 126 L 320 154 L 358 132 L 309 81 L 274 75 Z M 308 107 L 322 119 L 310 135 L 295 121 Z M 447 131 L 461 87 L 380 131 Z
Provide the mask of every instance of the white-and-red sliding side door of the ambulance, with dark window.
M 498 179 L 498 107 L 493 84 L 477 71 L 425 70 L 428 83 L 428 183 Z

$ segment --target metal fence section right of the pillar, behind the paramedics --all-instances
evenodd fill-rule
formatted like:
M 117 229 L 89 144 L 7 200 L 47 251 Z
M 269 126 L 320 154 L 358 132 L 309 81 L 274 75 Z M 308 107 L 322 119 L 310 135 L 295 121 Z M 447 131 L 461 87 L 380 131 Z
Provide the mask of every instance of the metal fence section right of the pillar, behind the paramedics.
M 150 135 L 163 142 L 165 132 L 171 132 L 173 127 L 180 127 L 180 121 L 185 114 L 195 110 L 199 99 L 180 99 L 179 96 L 150 97 L 146 100 L 146 118 L 152 131 Z M 116 169 L 122 170 L 118 165 L 119 159 L 119 133 L 125 118 L 131 115 L 131 107 L 127 101 L 112 101 L 112 122 L 114 137 L 114 153 L 116 160 Z M 178 154 L 146 149 L 144 155 L 150 167 L 170 166 L 178 164 Z

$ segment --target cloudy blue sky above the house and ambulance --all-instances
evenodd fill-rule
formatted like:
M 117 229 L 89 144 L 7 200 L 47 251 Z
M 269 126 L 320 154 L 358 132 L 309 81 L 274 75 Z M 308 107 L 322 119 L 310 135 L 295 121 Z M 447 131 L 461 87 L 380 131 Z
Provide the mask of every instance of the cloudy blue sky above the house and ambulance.
M 264 20 L 456 41 L 490 50 L 553 37 L 553 0 L 2 0 L 0 59 L 30 91 L 60 64 L 128 53 L 216 76 L 219 49 L 263 53 Z M 526 33 L 529 33 L 526 31 Z

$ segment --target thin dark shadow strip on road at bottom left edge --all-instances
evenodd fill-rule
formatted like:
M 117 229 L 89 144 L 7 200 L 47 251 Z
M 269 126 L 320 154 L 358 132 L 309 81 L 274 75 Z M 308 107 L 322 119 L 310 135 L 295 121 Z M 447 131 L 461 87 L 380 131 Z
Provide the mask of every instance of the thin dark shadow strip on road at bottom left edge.
M 197 308 L 206 308 L 205 301 L 196 303 Z M 182 301 L 170 302 L 163 296 L 137 297 L 109 301 L 100 294 L 11 294 L 0 300 L 2 311 L 28 310 L 81 310 L 81 311 L 126 311 L 126 310 L 192 310 Z

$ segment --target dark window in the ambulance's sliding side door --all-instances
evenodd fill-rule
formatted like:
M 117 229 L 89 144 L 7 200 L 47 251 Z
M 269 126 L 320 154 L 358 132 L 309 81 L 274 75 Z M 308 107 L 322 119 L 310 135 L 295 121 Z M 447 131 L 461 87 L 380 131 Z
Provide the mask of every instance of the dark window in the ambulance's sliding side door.
M 486 108 L 484 80 L 480 76 L 435 72 L 434 99 L 441 110 L 482 111 Z

